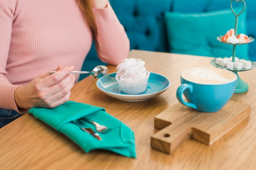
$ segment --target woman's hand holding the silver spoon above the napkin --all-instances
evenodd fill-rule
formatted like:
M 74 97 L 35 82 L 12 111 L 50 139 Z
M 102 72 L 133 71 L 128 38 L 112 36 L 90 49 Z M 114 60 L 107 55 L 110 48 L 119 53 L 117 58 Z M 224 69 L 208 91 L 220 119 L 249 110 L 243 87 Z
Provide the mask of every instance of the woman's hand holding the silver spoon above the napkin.
M 49 75 L 49 72 L 45 72 L 27 85 L 18 87 L 14 93 L 18 108 L 53 108 L 67 102 L 75 81 L 74 74 L 69 74 L 73 68 L 58 66 L 56 73 Z

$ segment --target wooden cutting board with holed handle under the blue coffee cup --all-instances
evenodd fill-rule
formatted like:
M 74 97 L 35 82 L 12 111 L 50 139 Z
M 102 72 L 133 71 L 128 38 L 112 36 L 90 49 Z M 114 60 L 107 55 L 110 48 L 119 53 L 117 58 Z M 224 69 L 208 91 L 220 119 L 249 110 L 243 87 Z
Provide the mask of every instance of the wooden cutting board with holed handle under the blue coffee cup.
M 220 111 L 199 112 L 180 103 L 155 116 L 161 129 L 151 136 L 151 148 L 171 154 L 185 140 L 195 139 L 211 145 L 249 117 L 250 105 L 229 101 Z

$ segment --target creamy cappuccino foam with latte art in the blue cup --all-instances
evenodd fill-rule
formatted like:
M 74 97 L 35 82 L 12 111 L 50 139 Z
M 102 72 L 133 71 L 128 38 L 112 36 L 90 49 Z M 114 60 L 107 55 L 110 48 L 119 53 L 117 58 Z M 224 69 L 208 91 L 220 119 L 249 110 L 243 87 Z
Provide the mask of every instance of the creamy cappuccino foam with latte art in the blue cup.
M 236 80 L 237 76 L 233 72 L 221 68 L 197 67 L 189 68 L 181 73 L 182 78 L 198 84 L 225 84 Z

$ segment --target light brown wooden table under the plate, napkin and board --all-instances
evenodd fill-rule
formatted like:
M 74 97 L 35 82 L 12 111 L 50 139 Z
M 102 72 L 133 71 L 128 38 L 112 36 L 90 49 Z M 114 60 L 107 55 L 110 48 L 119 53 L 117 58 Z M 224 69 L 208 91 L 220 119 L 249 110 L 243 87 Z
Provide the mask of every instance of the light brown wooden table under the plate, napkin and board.
M 176 104 L 180 72 L 194 66 L 212 66 L 211 58 L 183 54 L 130 51 L 129 57 L 146 61 L 146 69 L 170 79 L 163 94 L 143 102 L 124 102 L 103 94 L 97 79 L 89 76 L 74 85 L 70 100 L 106 108 L 135 132 L 137 158 L 94 150 L 84 153 L 65 135 L 25 114 L 0 129 L 0 169 L 92 169 L 92 170 L 252 170 L 256 167 L 256 70 L 240 72 L 249 91 L 231 100 L 251 105 L 250 117 L 211 146 L 187 139 L 171 155 L 153 150 L 150 136 L 154 117 Z M 116 72 L 109 65 L 109 73 Z

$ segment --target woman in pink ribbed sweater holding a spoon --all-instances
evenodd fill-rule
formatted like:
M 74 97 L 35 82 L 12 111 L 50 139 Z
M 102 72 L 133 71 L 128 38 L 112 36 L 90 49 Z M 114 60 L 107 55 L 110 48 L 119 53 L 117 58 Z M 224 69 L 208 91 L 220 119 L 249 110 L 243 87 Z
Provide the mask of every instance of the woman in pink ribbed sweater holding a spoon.
M 0 126 L 69 100 L 79 77 L 68 73 L 81 70 L 93 39 L 103 62 L 128 55 L 108 0 L 0 0 Z

